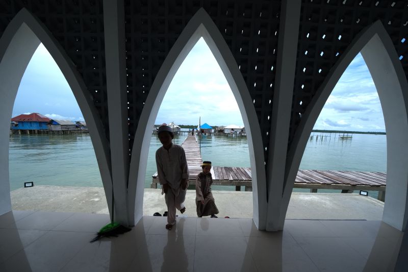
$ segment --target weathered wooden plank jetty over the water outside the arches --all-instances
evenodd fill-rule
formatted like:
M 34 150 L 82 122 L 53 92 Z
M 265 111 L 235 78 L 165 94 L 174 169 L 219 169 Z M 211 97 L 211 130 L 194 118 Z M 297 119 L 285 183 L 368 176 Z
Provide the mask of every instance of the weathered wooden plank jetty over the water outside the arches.
M 182 144 L 189 167 L 190 185 L 194 185 L 195 178 L 201 171 L 202 158 L 199 146 L 192 135 L 187 136 Z M 252 173 L 250 167 L 222 167 L 211 168 L 214 185 L 236 186 L 241 190 L 252 191 Z M 384 201 L 387 174 L 383 172 L 334 171 L 334 170 L 298 170 L 294 188 L 341 190 L 342 193 L 353 190 L 378 191 L 378 200 Z M 151 188 L 157 188 L 159 179 L 157 172 L 152 176 Z

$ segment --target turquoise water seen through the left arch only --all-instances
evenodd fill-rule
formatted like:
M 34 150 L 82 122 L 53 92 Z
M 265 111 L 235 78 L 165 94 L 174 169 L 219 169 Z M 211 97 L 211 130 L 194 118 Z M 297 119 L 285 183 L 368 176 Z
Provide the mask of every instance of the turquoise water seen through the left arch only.
M 15 135 L 9 144 L 10 190 L 35 185 L 102 186 L 89 134 Z

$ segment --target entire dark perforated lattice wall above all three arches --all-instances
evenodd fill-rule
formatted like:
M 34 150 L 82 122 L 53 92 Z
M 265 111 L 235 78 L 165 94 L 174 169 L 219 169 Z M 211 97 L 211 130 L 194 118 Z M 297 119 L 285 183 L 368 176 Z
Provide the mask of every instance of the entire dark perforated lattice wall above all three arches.
M 60 42 L 82 75 L 109 139 L 103 1 L 0 1 L 0 35 L 27 8 Z M 211 16 L 233 53 L 269 145 L 280 1 L 125 0 L 125 46 L 130 147 L 157 72 L 199 8 Z M 352 39 L 381 20 L 408 73 L 408 3 L 377 0 L 303 0 L 289 144 L 302 114 Z M 265 150 L 268 160 L 268 151 Z

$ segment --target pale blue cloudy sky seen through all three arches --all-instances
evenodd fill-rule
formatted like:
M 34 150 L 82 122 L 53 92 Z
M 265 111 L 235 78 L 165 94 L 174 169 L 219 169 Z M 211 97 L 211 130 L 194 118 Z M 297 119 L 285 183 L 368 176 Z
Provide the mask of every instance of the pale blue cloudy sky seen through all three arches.
M 21 80 L 12 116 L 38 112 L 49 118 L 84 120 L 54 59 L 40 44 Z M 201 38 L 176 72 L 155 123 L 243 126 L 235 97 L 210 48 Z M 314 129 L 385 131 L 370 72 L 357 55 L 329 96 Z

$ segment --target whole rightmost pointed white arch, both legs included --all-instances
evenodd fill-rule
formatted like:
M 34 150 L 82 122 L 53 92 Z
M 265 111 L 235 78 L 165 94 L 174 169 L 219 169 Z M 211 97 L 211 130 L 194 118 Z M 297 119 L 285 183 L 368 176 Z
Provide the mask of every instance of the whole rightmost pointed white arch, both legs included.
M 347 47 L 337 64 L 331 68 L 302 116 L 289 148 L 285 189 L 281 208 L 283 227 L 297 170 L 313 126 L 331 91 L 344 71 L 361 52 L 373 78 L 384 114 L 387 131 L 387 194 L 382 219 L 404 230 L 408 217 L 408 83 L 395 47 L 384 26 L 376 21 Z M 373 57 L 375 56 L 375 57 Z M 387 76 L 384 76 L 387 75 Z

